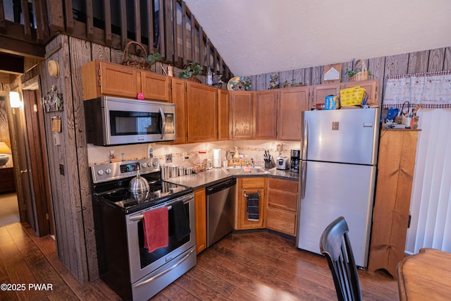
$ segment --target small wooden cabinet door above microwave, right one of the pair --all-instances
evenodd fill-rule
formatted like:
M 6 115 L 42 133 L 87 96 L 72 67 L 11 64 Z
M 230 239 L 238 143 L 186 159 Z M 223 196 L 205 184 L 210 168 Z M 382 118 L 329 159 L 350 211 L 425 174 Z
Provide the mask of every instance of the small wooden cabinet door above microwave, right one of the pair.
M 171 102 L 171 78 L 154 72 L 141 71 L 141 92 L 145 99 Z

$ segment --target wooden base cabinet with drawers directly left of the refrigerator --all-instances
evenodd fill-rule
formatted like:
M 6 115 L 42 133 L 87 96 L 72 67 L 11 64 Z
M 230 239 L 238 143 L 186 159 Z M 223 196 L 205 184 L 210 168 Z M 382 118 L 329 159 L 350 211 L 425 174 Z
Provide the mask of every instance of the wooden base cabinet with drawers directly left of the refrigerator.
M 268 179 L 266 228 L 296 236 L 298 186 L 297 181 Z

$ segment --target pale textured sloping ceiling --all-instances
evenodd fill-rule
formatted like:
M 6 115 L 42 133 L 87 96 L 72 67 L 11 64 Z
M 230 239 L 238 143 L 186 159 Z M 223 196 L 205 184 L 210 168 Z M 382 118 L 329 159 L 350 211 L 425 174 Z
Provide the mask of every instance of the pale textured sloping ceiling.
M 451 46 L 450 0 L 185 0 L 235 75 Z

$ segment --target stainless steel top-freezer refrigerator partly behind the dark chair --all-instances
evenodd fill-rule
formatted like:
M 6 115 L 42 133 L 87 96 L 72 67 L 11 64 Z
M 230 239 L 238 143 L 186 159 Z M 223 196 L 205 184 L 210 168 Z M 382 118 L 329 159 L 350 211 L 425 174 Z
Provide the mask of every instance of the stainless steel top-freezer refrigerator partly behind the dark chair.
M 368 266 L 380 111 L 302 112 L 297 247 L 320 254 L 319 239 L 344 216 L 357 266 Z

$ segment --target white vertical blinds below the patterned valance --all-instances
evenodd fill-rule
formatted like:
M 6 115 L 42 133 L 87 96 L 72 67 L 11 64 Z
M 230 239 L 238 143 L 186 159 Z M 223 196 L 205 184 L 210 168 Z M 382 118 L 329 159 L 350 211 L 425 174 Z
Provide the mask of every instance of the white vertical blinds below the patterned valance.
M 406 252 L 451 252 L 451 109 L 421 112 Z

